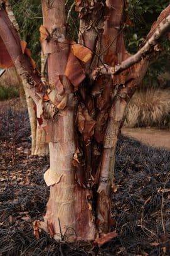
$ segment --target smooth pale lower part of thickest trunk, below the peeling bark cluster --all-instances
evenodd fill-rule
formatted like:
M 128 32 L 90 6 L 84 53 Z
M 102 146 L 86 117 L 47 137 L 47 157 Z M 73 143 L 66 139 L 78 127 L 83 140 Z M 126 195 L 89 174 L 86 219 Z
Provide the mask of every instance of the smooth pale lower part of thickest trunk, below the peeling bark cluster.
M 50 186 L 50 198 L 45 223 L 41 226 L 48 231 L 52 226 L 56 240 L 94 240 L 95 228 L 88 209 L 88 193 L 75 181 L 72 165 L 75 152 L 73 111 L 68 110 L 58 116 L 49 132 L 53 138 L 49 143 L 50 169 L 45 173 L 45 181 Z

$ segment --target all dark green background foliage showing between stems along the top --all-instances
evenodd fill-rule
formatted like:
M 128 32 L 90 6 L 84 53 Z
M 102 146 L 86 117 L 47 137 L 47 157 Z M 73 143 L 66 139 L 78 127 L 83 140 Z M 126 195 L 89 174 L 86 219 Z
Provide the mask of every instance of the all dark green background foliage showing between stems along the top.
M 68 34 L 76 40 L 78 34 L 78 14 L 75 12 L 73 0 L 66 1 L 66 14 L 72 6 L 68 20 Z M 43 24 L 40 0 L 10 0 L 16 19 L 19 23 L 22 40 L 28 42 L 28 47 L 33 53 L 38 67 L 40 68 L 40 25 Z M 169 0 L 127 0 L 125 13 L 127 25 L 125 26 L 125 45 L 130 53 L 135 53 L 140 47 L 142 40 L 149 32 L 152 23 L 157 19 L 162 9 L 166 8 Z M 170 41 L 163 40 L 163 50 L 159 58 L 152 62 L 142 86 L 160 86 L 161 79 L 170 81 Z M 161 82 L 162 83 L 162 82 Z

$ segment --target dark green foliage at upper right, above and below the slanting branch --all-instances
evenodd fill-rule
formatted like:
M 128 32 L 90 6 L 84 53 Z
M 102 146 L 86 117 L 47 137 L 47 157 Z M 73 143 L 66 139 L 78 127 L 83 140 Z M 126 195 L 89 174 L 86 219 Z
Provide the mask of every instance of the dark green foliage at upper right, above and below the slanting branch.
M 125 45 L 130 53 L 135 53 L 142 40 L 156 21 L 157 16 L 169 4 L 169 0 L 127 0 L 125 12 L 130 25 L 125 26 Z M 164 87 L 170 81 L 170 40 L 161 40 L 162 52 L 155 58 L 142 82 L 142 87 Z

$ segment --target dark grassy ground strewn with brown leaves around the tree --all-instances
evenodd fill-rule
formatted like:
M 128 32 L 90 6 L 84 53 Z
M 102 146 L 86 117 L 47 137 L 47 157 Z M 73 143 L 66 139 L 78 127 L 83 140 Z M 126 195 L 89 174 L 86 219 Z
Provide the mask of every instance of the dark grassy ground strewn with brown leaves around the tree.
M 118 236 L 102 247 L 33 235 L 45 214 L 48 157 L 30 156 L 26 111 L 0 114 L 0 255 L 170 255 L 170 152 L 121 136 L 112 215 Z

